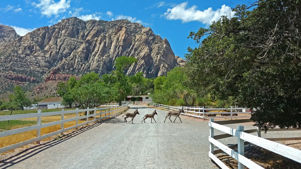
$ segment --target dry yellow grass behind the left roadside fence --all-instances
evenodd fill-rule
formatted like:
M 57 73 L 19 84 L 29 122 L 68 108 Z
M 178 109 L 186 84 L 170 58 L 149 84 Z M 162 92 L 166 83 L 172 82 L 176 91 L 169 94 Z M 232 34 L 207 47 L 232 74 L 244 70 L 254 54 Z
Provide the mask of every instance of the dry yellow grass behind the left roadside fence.
M 112 109 L 110 109 L 110 110 L 112 110 Z M 109 111 L 109 110 L 107 109 L 107 111 Z M 99 113 L 99 112 L 100 111 L 96 111 L 96 113 Z M 104 110 L 102 112 L 104 112 Z M 115 113 L 115 112 L 116 111 L 114 111 L 113 113 Z M 112 114 L 112 112 L 110 114 Z M 101 117 L 104 117 L 106 115 L 109 115 L 109 114 L 108 113 L 102 114 Z M 84 112 L 79 113 L 79 117 L 80 116 L 84 116 Z M 69 118 L 74 118 L 74 117 L 76 117 L 75 113 L 64 114 L 64 119 L 69 119 Z M 96 116 L 96 118 L 99 118 L 99 117 L 100 117 L 100 115 Z M 26 119 L 22 119 L 22 120 L 31 120 L 31 121 L 35 120 L 36 121 L 37 118 L 36 117 L 26 118 Z M 45 116 L 45 117 L 42 117 L 42 124 L 53 122 L 53 121 L 59 121 L 59 120 L 61 120 L 61 115 Z M 90 120 L 94 120 L 94 117 L 90 117 L 89 121 Z M 84 122 L 86 122 L 86 118 L 82 118 L 82 119 L 78 120 L 78 124 L 81 124 L 81 123 L 84 123 Z M 74 126 L 75 124 L 76 124 L 75 121 L 66 122 L 66 123 L 64 123 L 64 128 Z M 27 126 L 28 125 L 16 125 L 16 126 L 13 126 L 12 128 L 10 128 L 10 130 L 17 129 L 17 128 L 23 128 L 23 127 L 27 127 Z M 42 128 L 41 129 L 41 136 L 45 135 L 45 134 L 48 134 L 48 133 L 58 131 L 58 130 L 61 130 L 61 124 L 49 126 L 49 127 L 46 127 L 46 128 Z M 35 137 L 36 137 L 36 130 L 26 131 L 26 132 L 23 132 L 23 133 L 18 133 L 18 134 L 13 134 L 13 135 L 6 136 L 6 137 L 1 137 L 1 139 L 0 139 L 0 148 L 10 146 L 10 145 L 13 145 L 13 144 L 16 144 L 16 143 L 20 143 L 20 142 L 23 142 L 23 141 L 26 141 L 26 140 L 30 140 L 30 139 L 33 139 Z M 48 137 L 48 138 L 43 139 L 43 140 L 50 140 L 50 139 L 51 138 Z

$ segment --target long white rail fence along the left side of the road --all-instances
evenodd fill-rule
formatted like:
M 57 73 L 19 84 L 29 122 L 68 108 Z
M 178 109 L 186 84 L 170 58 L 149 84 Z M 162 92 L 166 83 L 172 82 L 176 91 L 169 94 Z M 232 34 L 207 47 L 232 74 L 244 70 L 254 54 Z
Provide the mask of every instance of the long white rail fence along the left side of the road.
M 0 132 L 0 138 L 1 138 L 1 137 L 9 136 L 12 134 L 23 133 L 23 132 L 31 131 L 31 130 L 37 131 L 36 138 L 0 148 L 0 153 L 24 146 L 29 143 L 33 143 L 33 142 L 39 143 L 40 140 L 45 139 L 47 137 L 51 137 L 51 136 L 54 136 L 54 135 L 60 134 L 60 133 L 63 134 L 63 132 L 71 130 L 73 128 L 78 128 L 79 126 L 115 115 L 119 112 L 126 110 L 127 107 L 128 107 L 128 104 L 123 105 L 123 106 L 92 108 L 92 109 L 87 108 L 87 109 L 80 109 L 80 110 L 78 108 L 76 108 L 76 110 L 67 110 L 67 111 L 63 110 L 63 111 L 58 111 L 58 112 L 45 112 L 45 113 L 42 113 L 42 110 L 38 110 L 38 113 L 0 116 L 0 121 L 37 117 L 37 125 Z M 96 111 L 98 111 L 98 110 L 100 111 L 100 113 L 96 113 Z M 102 110 L 104 110 L 104 112 L 102 112 Z M 90 115 L 89 115 L 89 113 L 87 113 L 87 115 L 80 116 L 80 117 L 78 116 L 79 112 L 91 112 L 91 111 L 93 111 L 94 113 L 90 114 Z M 76 113 L 76 117 L 64 119 L 64 114 L 67 114 L 67 113 Z M 105 114 L 105 116 L 101 117 L 102 114 Z M 41 123 L 41 117 L 51 116 L 51 115 L 61 115 L 61 120 L 53 121 L 53 122 L 49 122 L 49 123 L 45 123 L 45 124 Z M 100 117 L 96 118 L 97 115 L 100 115 Z M 94 119 L 89 121 L 89 117 L 94 117 Z M 78 120 L 83 119 L 83 118 L 86 118 L 86 122 L 78 124 Z M 71 127 L 64 128 L 64 123 L 69 122 L 69 121 L 76 121 L 76 124 Z M 45 128 L 45 127 L 49 127 L 49 126 L 53 126 L 53 125 L 57 125 L 57 124 L 61 124 L 61 130 L 41 136 L 41 128 Z

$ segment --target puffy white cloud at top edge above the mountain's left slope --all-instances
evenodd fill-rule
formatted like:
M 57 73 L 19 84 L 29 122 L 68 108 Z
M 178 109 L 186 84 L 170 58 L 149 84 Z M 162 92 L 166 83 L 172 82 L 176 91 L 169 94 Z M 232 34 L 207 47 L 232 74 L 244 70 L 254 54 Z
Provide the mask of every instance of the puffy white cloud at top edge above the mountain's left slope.
M 55 2 L 54 0 L 40 0 L 39 4 L 33 2 L 32 5 L 36 6 L 36 8 L 39 8 L 42 15 L 51 17 L 52 15 L 65 12 L 66 9 L 70 7 L 70 0 L 60 0 L 59 2 Z

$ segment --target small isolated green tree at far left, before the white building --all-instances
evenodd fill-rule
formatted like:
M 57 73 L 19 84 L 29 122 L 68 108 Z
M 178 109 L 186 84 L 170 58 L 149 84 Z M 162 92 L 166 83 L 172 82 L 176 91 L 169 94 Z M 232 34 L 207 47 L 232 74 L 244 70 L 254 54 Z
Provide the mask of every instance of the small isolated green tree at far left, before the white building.
M 27 97 L 26 91 L 23 90 L 21 86 L 15 86 L 13 89 L 13 93 L 14 94 L 9 95 L 9 100 L 11 102 L 19 104 L 21 110 L 24 110 L 23 106 L 31 104 L 29 98 Z

